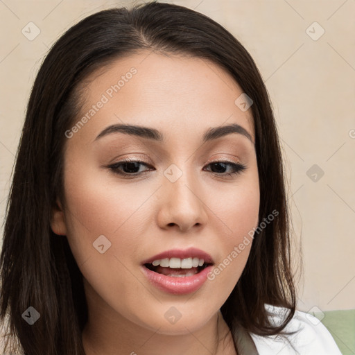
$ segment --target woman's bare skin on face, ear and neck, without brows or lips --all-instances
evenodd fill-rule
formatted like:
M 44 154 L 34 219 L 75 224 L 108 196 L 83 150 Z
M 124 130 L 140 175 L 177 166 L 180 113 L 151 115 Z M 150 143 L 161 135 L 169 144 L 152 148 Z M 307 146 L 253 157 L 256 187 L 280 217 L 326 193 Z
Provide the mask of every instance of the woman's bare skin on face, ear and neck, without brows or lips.
M 94 73 L 85 83 L 81 114 L 131 67 L 137 69 L 135 76 L 67 139 L 65 204 L 57 201 L 51 223 L 53 232 L 67 237 L 84 276 L 89 309 L 85 352 L 236 354 L 219 310 L 241 276 L 252 243 L 214 280 L 187 295 L 150 284 L 141 262 L 165 250 L 195 247 L 211 254 L 218 266 L 257 226 L 251 110 L 243 112 L 234 104 L 243 90 L 216 64 L 144 51 Z M 121 132 L 95 141 L 114 123 L 156 128 L 166 141 Z M 230 123 L 243 126 L 253 142 L 234 133 L 201 144 L 205 130 Z M 126 157 L 149 166 L 141 164 L 135 170 L 141 175 L 130 178 L 107 168 Z M 212 171 L 216 159 L 247 168 L 227 176 L 233 167 Z M 164 175 L 171 164 L 182 171 L 176 182 Z M 103 254 L 93 247 L 100 235 L 112 243 Z M 175 324 L 164 317 L 171 306 L 182 315 Z

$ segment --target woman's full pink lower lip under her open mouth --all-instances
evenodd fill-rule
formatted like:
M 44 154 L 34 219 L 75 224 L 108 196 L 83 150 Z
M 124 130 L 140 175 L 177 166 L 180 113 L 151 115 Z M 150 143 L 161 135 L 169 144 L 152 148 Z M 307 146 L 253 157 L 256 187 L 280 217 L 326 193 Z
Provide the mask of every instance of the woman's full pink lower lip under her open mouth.
M 175 295 L 184 295 L 186 293 L 198 291 L 198 289 L 206 282 L 207 275 L 213 266 L 207 266 L 207 268 L 204 268 L 197 274 L 187 277 L 167 276 L 149 270 L 145 266 L 141 266 L 141 268 L 149 281 L 160 290 L 174 293 Z

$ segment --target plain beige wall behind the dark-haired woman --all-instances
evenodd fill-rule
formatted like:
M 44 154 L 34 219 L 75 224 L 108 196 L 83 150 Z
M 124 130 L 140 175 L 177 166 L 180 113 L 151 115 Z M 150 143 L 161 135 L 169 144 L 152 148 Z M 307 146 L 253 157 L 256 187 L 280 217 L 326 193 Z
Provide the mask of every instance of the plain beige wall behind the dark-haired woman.
M 167 2 L 225 26 L 250 51 L 266 81 L 282 137 L 295 240 L 302 239 L 299 308 L 354 309 L 355 1 Z M 1 222 L 26 101 L 46 51 L 86 15 L 132 3 L 0 1 Z M 30 36 L 29 22 L 40 29 L 32 41 L 21 33 L 24 28 Z

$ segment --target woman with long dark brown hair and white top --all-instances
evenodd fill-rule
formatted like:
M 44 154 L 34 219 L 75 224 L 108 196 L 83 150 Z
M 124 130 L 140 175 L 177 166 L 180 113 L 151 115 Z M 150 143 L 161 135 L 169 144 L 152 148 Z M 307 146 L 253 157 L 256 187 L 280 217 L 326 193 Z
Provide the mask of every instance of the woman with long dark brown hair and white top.
M 28 103 L 0 260 L 6 351 L 340 354 L 295 309 L 288 228 L 243 46 L 182 6 L 91 15 Z

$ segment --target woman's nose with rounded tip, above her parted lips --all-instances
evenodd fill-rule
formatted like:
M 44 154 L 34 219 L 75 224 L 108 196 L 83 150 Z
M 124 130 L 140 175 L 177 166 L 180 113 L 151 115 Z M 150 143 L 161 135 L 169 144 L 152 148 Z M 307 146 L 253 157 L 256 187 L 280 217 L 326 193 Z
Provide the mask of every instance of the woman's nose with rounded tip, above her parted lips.
M 202 186 L 193 173 L 183 171 L 175 182 L 163 175 L 159 189 L 159 227 L 187 232 L 194 226 L 205 225 L 208 218 L 205 198 Z

